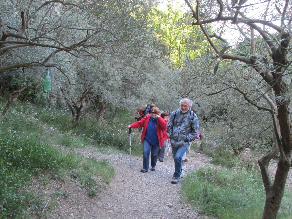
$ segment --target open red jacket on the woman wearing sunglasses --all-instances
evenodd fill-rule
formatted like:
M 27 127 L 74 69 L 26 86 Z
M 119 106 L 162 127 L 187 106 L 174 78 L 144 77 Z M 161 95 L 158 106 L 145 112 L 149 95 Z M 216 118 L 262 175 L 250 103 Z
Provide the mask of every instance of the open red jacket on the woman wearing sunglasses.
M 142 128 L 143 127 L 143 131 L 141 134 L 141 142 L 142 143 L 143 143 L 143 140 L 144 140 L 145 135 L 146 135 L 146 129 L 147 129 L 147 126 L 148 126 L 148 123 L 150 120 L 150 116 L 151 116 L 151 114 L 147 114 L 140 121 L 137 121 L 137 122 L 130 124 L 130 126 L 132 128 Z M 162 119 L 162 117 L 159 117 L 157 119 L 157 124 L 156 124 L 156 132 L 157 132 L 157 136 L 158 136 L 159 147 L 162 147 L 162 145 L 164 143 L 163 130 L 166 130 L 166 122 L 164 121 L 164 119 Z

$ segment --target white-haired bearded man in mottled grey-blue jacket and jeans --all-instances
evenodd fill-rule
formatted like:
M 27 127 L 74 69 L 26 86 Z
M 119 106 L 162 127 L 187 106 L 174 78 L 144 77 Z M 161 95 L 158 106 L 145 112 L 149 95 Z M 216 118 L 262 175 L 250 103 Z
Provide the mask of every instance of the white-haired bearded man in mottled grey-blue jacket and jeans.
M 191 111 L 192 105 L 193 101 L 189 98 L 181 99 L 180 108 L 170 114 L 167 122 L 166 133 L 170 138 L 175 169 L 171 183 L 179 182 L 183 171 L 183 155 L 198 135 L 199 120 Z

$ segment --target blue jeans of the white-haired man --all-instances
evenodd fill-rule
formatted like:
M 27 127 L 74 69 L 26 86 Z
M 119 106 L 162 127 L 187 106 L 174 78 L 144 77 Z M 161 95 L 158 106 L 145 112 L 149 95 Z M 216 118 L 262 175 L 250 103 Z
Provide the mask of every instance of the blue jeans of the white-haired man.
M 183 155 L 185 154 L 187 148 L 190 146 L 192 142 L 183 145 L 179 148 L 176 148 L 171 145 L 172 149 L 172 155 L 173 155 L 173 160 L 174 160 L 174 170 L 175 172 L 173 173 L 173 178 L 179 179 L 180 175 L 183 172 Z

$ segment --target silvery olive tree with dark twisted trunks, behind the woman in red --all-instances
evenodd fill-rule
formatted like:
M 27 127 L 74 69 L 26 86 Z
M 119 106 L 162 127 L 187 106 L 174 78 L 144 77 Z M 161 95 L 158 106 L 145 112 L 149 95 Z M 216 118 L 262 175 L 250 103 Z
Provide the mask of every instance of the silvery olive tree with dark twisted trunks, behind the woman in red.
M 142 9 L 137 5 L 143 5 Z M 163 48 L 147 27 L 151 20 L 145 14 L 150 9 L 151 4 L 145 1 L 112 1 L 101 11 L 107 19 L 90 20 L 90 25 L 110 30 L 94 36 L 95 44 L 102 45 L 98 58 L 63 58 L 71 66 L 66 70 L 71 77 L 59 86 L 76 120 L 82 119 L 90 108 L 101 117 L 105 106 L 114 109 L 128 106 L 133 110 L 146 105 L 152 101 L 149 94 L 150 88 L 155 89 L 153 84 L 167 81 L 167 68 L 161 62 Z M 97 10 L 98 7 L 93 9 Z M 154 72 L 161 75 L 157 74 L 152 84 Z M 162 91 L 169 93 L 167 89 Z

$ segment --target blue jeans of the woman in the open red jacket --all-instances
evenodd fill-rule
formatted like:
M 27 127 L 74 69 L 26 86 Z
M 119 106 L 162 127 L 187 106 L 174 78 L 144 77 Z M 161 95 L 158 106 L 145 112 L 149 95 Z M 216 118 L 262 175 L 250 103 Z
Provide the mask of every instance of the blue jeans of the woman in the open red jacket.
M 144 140 L 142 145 L 143 145 L 143 169 L 144 170 L 149 169 L 150 152 L 151 152 L 151 167 L 155 168 L 156 162 L 157 162 L 157 152 L 160 147 L 149 144 L 147 140 Z

